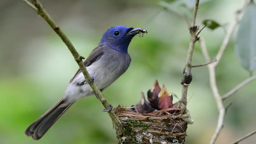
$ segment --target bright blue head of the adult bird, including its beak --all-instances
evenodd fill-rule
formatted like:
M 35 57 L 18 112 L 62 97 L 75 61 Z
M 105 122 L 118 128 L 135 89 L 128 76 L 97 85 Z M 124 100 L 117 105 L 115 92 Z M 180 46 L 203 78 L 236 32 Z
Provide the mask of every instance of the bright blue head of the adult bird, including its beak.
M 141 29 L 141 28 L 137 28 Z M 126 52 L 132 38 L 139 34 L 137 29 L 126 26 L 115 26 L 108 29 L 101 38 L 99 45 L 106 44 L 121 52 Z

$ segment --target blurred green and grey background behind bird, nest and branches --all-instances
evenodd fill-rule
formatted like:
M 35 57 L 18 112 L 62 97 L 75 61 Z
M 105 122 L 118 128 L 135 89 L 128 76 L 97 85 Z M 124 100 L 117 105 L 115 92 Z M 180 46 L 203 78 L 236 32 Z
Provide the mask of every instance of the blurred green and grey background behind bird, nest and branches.
M 81 55 L 98 45 L 102 34 L 117 25 L 142 27 L 148 34 L 134 39 L 129 46 L 130 68 L 103 91 L 117 106 L 139 101 L 140 91 L 147 92 L 154 80 L 169 91 L 181 95 L 180 81 L 187 57 L 189 32 L 183 17 L 163 10 L 154 0 L 41 0 L 48 13 L 66 32 Z M 228 24 L 241 0 L 212 0 L 200 5 L 197 24 L 215 19 Z M 192 13 L 192 10 L 190 10 Z M 205 29 L 212 58 L 218 52 L 225 32 Z M 205 63 L 196 44 L 193 64 Z M 71 53 L 48 24 L 22 1 L 0 2 L 0 143 L 1 144 L 114 144 L 115 131 L 102 104 L 93 96 L 75 103 L 39 141 L 23 135 L 35 119 L 62 97 L 69 80 L 78 69 Z M 255 74 L 254 74 L 255 75 Z M 234 52 L 234 35 L 217 68 L 221 94 L 249 77 Z M 232 102 L 217 143 L 230 143 L 255 130 L 256 81 L 243 87 L 225 101 Z M 193 125 L 188 125 L 187 142 L 209 143 L 217 124 L 218 112 L 209 87 L 207 67 L 193 68 L 188 89 Z M 174 98 L 174 101 L 178 101 Z M 241 144 L 254 144 L 252 136 Z

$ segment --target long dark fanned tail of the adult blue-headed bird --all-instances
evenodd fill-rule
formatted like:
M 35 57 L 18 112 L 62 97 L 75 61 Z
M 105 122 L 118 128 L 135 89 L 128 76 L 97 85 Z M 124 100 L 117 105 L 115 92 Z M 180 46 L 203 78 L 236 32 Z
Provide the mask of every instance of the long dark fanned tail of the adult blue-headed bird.
M 53 107 L 50 108 L 44 115 L 33 122 L 25 131 L 25 135 L 32 137 L 34 140 L 39 140 L 49 130 L 49 128 L 62 116 L 63 113 L 73 104 L 63 106 L 61 98 Z

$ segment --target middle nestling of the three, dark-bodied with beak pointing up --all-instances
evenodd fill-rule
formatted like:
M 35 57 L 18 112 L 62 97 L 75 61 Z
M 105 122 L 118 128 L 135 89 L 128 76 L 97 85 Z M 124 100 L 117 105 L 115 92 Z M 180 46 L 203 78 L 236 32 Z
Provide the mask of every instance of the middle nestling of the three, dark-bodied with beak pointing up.
M 155 109 L 158 109 L 158 101 L 159 101 L 158 94 L 160 93 L 160 91 L 161 91 L 161 87 L 159 86 L 159 83 L 156 80 L 153 88 L 149 89 L 147 93 L 148 101 L 151 103 L 152 107 Z

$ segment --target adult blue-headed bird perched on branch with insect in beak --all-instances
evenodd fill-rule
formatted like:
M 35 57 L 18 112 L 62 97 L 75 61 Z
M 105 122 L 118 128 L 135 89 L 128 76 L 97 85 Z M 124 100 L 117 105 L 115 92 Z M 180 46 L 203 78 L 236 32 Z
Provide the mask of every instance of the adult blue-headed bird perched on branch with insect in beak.
M 84 61 L 84 65 L 91 76 L 90 81 L 94 81 L 101 91 L 126 72 L 131 62 L 128 46 L 133 37 L 143 30 L 142 28 L 134 29 L 126 26 L 111 27 L 103 34 L 99 45 L 93 49 Z M 41 139 L 72 104 L 83 97 L 94 95 L 94 91 L 89 85 L 90 81 L 87 82 L 84 79 L 84 74 L 78 69 L 70 80 L 62 98 L 29 125 L 25 135 L 32 137 L 34 140 Z

